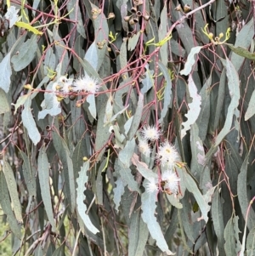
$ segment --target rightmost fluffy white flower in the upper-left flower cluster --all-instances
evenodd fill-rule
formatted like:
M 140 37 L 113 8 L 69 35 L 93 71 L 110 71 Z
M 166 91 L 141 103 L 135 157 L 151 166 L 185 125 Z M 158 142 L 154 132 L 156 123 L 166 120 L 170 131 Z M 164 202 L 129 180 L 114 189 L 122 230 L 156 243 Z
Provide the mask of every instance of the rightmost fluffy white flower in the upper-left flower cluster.
M 94 77 L 89 77 L 85 75 L 84 77 L 79 77 L 73 84 L 72 90 L 75 92 L 88 92 L 90 94 L 95 94 L 99 91 L 98 80 Z

